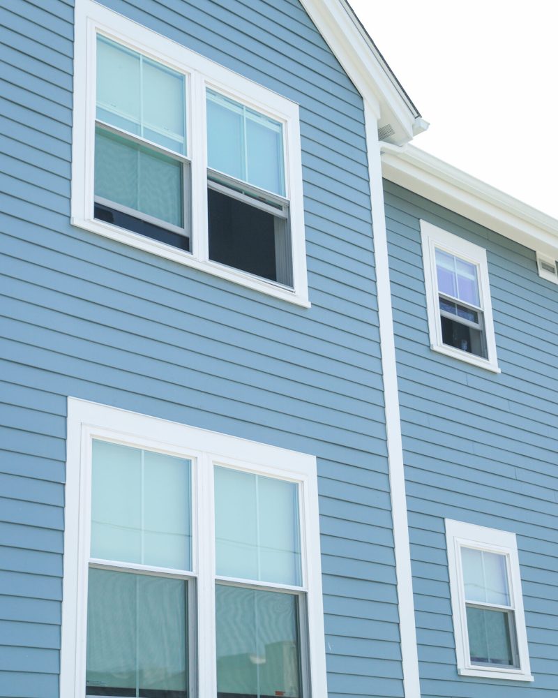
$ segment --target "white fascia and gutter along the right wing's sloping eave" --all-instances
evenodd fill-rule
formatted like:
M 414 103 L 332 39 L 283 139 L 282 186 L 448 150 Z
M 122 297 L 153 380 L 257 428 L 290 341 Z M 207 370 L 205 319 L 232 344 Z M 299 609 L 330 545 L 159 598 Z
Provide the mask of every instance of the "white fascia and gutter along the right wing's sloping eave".
M 386 179 L 520 245 L 558 259 L 558 221 L 414 147 L 383 145 Z

